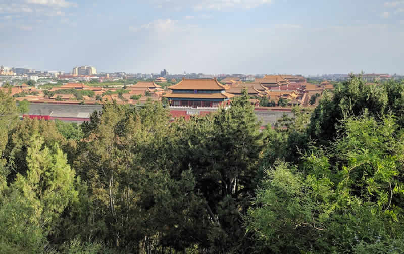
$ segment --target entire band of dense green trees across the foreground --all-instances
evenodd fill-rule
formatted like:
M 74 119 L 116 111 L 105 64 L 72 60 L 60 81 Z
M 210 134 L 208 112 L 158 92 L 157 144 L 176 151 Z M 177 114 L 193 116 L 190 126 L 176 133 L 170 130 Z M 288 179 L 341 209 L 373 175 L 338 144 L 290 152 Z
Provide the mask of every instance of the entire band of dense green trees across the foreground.
M 354 77 L 265 130 L 246 93 L 81 126 L 0 102 L 2 253 L 404 252 L 404 83 Z

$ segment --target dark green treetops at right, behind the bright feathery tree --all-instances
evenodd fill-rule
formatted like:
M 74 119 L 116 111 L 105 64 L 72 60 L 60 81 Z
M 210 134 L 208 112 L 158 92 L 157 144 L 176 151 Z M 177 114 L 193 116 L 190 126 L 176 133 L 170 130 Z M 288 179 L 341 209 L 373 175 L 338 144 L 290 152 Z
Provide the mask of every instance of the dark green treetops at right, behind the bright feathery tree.
M 389 82 L 379 86 L 366 85 L 361 77 L 351 76 L 349 81 L 336 86 L 333 93 L 325 92 L 316 107 L 308 134 L 312 139 L 325 144 L 336 137 L 336 124 L 349 116 L 362 115 L 365 110 L 379 119 L 392 111 L 402 118 L 404 84 Z M 399 121 L 401 125 L 402 120 Z

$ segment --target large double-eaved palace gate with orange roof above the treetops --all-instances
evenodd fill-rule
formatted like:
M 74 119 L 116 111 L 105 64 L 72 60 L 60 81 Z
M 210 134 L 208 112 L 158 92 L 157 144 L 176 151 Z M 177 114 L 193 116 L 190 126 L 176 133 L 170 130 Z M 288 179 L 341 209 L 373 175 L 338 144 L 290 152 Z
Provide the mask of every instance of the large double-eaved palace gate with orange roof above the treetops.
M 219 107 L 230 107 L 233 94 L 227 93 L 228 86 L 215 79 L 182 79 L 168 87 L 172 92 L 163 95 L 168 99 L 170 113 L 176 116 L 204 115 Z

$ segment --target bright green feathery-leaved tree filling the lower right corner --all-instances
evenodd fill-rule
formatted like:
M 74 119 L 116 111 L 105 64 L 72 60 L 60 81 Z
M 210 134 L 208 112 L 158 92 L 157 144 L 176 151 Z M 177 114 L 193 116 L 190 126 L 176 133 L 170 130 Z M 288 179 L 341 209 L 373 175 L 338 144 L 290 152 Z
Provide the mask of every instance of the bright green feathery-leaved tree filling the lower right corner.
M 401 253 L 402 132 L 391 115 L 347 118 L 330 149 L 266 169 L 248 229 L 260 251 Z M 384 249 L 383 247 L 384 246 Z

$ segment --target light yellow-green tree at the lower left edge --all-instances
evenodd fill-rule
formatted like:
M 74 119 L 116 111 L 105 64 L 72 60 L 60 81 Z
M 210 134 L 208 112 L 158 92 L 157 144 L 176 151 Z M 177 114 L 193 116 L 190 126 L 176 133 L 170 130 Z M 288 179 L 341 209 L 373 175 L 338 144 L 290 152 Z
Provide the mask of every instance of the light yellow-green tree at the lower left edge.
M 57 144 L 43 147 L 43 138 L 32 136 L 27 149 L 26 175 L 17 174 L 0 201 L 0 246 L 21 252 L 42 253 L 46 236 L 59 216 L 77 198 L 75 172 Z M 14 251 L 10 251 L 12 253 Z

